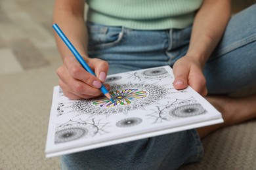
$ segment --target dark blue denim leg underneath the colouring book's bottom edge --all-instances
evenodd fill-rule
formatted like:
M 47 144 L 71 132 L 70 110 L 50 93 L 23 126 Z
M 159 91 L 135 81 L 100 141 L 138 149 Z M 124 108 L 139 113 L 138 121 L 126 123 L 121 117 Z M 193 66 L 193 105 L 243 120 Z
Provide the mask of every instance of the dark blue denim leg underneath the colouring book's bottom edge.
M 61 156 L 62 169 L 177 169 L 199 161 L 203 148 L 195 130 L 171 133 Z

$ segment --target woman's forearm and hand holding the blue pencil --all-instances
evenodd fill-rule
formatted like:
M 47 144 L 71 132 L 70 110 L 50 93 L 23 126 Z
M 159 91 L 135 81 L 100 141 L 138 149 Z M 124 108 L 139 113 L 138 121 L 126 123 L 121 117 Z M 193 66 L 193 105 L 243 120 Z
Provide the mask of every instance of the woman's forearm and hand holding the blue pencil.
M 85 25 L 85 1 L 84 0 L 55 0 L 53 12 L 53 24 L 62 27 L 70 42 L 75 46 L 81 56 L 87 55 L 87 27 Z M 72 53 L 64 42 L 54 32 L 58 51 L 63 59 L 63 65 L 56 73 L 59 76 L 59 84 L 66 97 L 70 99 L 91 98 L 102 95 L 99 88 L 105 81 L 108 73 L 108 63 L 100 59 L 85 57 L 85 61 L 95 72 L 91 75 L 83 69 L 80 63 L 72 56 Z M 107 89 L 110 86 L 104 85 Z

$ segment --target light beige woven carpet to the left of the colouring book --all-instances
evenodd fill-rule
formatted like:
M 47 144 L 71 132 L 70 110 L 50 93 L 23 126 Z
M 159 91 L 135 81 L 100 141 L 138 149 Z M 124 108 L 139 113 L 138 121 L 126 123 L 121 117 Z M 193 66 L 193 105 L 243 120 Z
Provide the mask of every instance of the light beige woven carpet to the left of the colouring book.
M 44 154 L 56 65 L 0 75 L 0 169 L 60 169 Z

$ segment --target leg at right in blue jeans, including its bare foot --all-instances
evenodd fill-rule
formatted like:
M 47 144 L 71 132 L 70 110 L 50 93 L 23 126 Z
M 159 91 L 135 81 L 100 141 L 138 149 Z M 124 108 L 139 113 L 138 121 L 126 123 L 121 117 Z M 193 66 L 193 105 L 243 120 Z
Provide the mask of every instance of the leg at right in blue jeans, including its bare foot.
M 230 20 L 205 66 L 209 93 L 230 93 L 256 84 L 255 10 L 253 5 Z M 256 118 L 256 94 L 240 98 L 209 95 L 206 99 L 223 114 L 224 123 L 197 129 L 201 138 L 221 127 Z

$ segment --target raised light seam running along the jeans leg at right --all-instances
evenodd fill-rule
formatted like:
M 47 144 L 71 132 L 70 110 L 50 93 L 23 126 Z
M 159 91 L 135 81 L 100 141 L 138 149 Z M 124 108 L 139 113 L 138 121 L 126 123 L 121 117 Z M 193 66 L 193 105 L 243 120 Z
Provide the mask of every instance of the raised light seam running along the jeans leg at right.
M 226 48 L 223 48 L 222 50 L 219 50 L 219 52 L 213 53 L 213 56 L 215 56 L 213 59 L 209 59 L 209 61 L 214 60 L 216 58 L 218 58 L 219 56 L 223 56 L 224 54 L 231 52 L 233 50 L 236 50 L 237 48 L 240 48 L 241 46 L 245 46 L 246 44 L 249 44 L 253 41 L 256 41 L 256 34 L 253 34 L 249 37 L 246 37 L 244 39 L 241 39 L 239 41 L 236 41 L 232 44 L 230 44 L 229 46 L 227 46 Z

